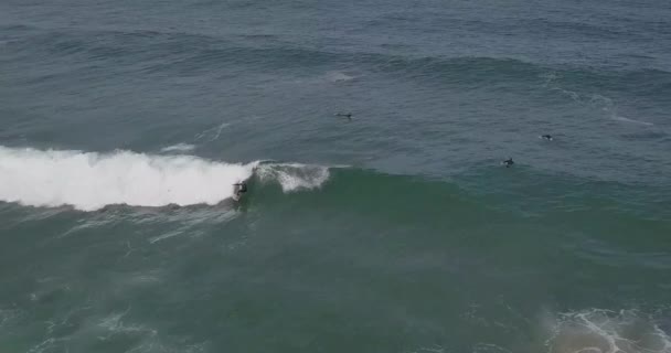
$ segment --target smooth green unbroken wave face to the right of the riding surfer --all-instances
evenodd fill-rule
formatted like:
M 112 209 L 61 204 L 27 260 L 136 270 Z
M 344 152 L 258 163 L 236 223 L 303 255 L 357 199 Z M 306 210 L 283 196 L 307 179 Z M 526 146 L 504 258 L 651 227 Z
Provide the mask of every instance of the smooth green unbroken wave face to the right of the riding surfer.
M 279 165 L 267 168 L 284 168 Z M 464 236 L 468 242 L 516 244 L 518 249 L 542 242 L 589 263 L 671 268 L 671 254 L 665 250 L 671 247 L 667 236 L 671 194 L 661 186 L 525 168 L 471 170 L 450 180 L 356 168 L 330 168 L 324 179 L 316 167 L 295 168 L 284 172 L 303 185 L 291 190 L 283 185 L 283 179 L 257 172 L 244 207 L 283 222 L 327 217 L 339 220 L 343 227 L 363 222 L 385 229 Z

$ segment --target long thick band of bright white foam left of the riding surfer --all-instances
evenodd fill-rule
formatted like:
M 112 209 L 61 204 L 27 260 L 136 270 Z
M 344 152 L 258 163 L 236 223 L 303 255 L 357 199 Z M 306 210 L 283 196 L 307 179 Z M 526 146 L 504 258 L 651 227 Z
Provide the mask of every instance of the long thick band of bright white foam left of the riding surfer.
M 216 204 L 256 163 L 228 164 L 191 156 L 129 151 L 100 154 L 0 147 L 0 201 L 31 206 Z

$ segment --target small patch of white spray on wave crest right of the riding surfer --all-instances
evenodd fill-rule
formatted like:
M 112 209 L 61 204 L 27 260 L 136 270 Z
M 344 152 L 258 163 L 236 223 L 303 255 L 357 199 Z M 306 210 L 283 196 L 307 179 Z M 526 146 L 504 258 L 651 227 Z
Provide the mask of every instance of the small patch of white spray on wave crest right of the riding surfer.
M 257 173 L 262 181 L 277 181 L 284 192 L 316 189 L 329 179 L 327 167 L 300 163 L 260 164 Z

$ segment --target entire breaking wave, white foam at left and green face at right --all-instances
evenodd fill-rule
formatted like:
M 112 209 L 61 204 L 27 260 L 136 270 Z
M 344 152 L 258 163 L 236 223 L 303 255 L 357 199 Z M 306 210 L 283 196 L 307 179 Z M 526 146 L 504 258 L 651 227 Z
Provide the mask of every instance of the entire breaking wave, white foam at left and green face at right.
M 227 202 L 241 180 L 248 180 L 248 193 L 237 204 Z M 446 246 L 467 242 L 541 252 L 532 248 L 541 242 L 586 264 L 653 270 L 671 269 L 669 200 L 669 189 L 661 186 L 523 167 L 471 170 L 446 180 L 350 167 L 0 147 L 0 201 L 7 203 L 79 211 L 126 205 L 124 215 L 156 207 L 151 212 L 161 217 L 172 212 L 163 206 L 203 205 L 213 222 L 241 211 L 288 227 L 329 220 L 343 231 L 362 225 L 371 232 L 418 232 Z M 202 222 L 192 207 L 180 213 Z

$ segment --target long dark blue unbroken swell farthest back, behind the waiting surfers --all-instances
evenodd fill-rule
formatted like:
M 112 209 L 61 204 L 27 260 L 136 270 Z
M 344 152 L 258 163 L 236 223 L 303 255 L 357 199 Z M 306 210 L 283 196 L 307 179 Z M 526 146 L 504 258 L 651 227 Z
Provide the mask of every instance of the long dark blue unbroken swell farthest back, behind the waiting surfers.
M 671 73 L 658 68 L 614 68 L 589 65 L 550 65 L 508 57 L 414 56 L 387 52 L 342 52 L 281 42 L 276 38 L 158 31 L 35 30 L 9 26 L 8 53 L 18 57 L 70 57 L 90 65 L 126 66 L 143 74 L 199 74 L 212 69 L 253 67 L 262 71 L 326 68 L 356 64 L 372 72 L 441 83 L 484 85 L 543 82 L 554 73 L 563 84 L 640 95 L 665 96 Z M 23 33 L 18 35 L 17 31 Z M 19 55 L 21 54 L 21 55 Z

